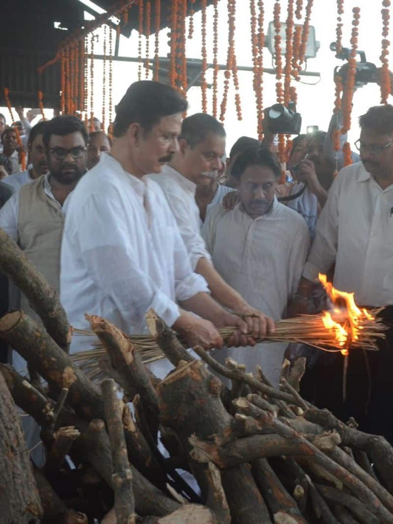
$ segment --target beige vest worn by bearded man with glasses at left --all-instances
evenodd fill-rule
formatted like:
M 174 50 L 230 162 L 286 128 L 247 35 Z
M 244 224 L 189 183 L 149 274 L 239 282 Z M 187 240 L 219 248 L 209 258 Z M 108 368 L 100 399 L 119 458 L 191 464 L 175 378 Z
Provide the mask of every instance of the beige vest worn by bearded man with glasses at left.
M 49 285 L 59 292 L 64 215 L 59 204 L 45 193 L 44 180 L 42 175 L 19 189 L 18 245 Z M 20 308 L 38 319 L 23 293 Z

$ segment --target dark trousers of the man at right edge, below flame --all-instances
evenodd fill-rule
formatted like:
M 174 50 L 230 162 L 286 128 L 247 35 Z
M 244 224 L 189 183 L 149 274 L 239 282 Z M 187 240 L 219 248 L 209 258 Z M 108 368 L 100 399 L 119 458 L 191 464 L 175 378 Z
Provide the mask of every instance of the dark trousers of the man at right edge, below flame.
M 353 417 L 359 429 L 384 435 L 393 444 L 393 306 L 380 316 L 390 328 L 386 339 L 378 341 L 379 351 L 350 350 L 345 402 L 340 353 L 321 358 L 307 370 L 301 393 L 318 408 L 329 409 L 344 422 Z

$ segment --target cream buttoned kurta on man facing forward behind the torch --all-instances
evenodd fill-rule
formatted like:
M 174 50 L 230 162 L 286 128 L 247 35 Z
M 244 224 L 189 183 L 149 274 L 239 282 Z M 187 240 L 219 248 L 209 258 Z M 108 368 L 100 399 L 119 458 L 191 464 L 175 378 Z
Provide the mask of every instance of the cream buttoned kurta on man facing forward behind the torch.
M 204 223 L 202 235 L 214 267 L 223 279 L 254 308 L 280 320 L 296 292 L 310 245 L 307 224 L 295 211 L 275 199 L 269 213 L 253 220 L 237 204 L 232 211 L 221 205 Z M 254 371 L 259 364 L 278 384 L 287 344 L 258 344 L 254 348 L 217 350 L 221 362 L 231 356 Z

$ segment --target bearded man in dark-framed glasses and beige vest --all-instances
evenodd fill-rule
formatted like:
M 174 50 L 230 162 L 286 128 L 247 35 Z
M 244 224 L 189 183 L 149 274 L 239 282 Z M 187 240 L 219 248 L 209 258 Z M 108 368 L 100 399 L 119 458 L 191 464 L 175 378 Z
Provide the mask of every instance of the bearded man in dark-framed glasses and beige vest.
M 88 133 L 83 122 L 74 116 L 57 116 L 42 124 L 45 126 L 40 147 L 45 149 L 39 151 L 37 162 L 33 163 L 33 174 L 40 176 L 22 185 L 0 210 L 0 227 L 59 291 L 64 213 L 72 190 L 86 171 Z M 13 307 L 20 306 L 38 319 L 24 296 L 20 302 L 13 297 L 12 302 Z

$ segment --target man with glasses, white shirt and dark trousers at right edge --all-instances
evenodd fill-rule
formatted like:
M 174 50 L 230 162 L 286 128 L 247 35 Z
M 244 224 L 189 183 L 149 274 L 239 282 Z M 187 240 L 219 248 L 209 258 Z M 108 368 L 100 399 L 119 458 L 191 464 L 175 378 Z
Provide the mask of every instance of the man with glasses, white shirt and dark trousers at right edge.
M 382 315 L 390 329 L 386 340 L 378 342 L 379 351 L 350 350 L 345 402 L 340 354 L 313 373 L 318 406 L 344 421 L 352 416 L 364 431 L 393 442 L 393 106 L 371 107 L 359 124 L 356 145 L 362 161 L 342 169 L 333 181 L 316 225 L 299 301 L 307 305 L 318 273 L 335 263 L 337 289 L 354 292 L 359 306 L 388 306 Z

